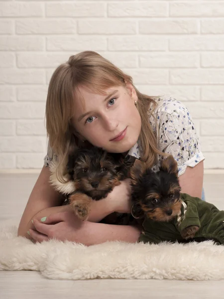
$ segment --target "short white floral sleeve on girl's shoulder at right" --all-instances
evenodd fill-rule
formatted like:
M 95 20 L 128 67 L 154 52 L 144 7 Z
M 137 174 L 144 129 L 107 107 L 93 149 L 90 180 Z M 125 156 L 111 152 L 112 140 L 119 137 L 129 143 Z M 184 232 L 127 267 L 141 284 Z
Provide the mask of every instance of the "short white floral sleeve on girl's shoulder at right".
M 178 175 L 182 175 L 187 166 L 194 167 L 205 159 L 195 125 L 185 105 L 175 99 L 165 100 L 157 112 L 157 120 L 158 117 L 160 150 L 176 159 Z

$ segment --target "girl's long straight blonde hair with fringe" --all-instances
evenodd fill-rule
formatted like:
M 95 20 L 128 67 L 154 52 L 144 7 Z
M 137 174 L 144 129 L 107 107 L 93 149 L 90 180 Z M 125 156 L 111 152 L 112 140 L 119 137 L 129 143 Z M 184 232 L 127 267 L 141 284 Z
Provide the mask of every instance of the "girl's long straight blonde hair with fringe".
M 103 94 L 112 86 L 126 86 L 132 83 L 132 78 L 123 73 L 112 62 L 94 51 L 84 51 L 70 56 L 66 63 L 62 63 L 54 71 L 47 94 L 46 129 L 49 145 L 59 158 L 59 165 L 65 164 L 68 154 L 80 147 L 80 141 L 72 126 L 74 112 L 74 97 L 78 97 L 80 85 Z M 133 86 L 134 87 L 134 86 Z M 149 124 L 150 112 L 156 107 L 155 97 L 141 94 L 134 87 L 138 101 L 136 107 L 141 117 L 141 131 L 139 143 L 141 160 L 148 167 L 157 162 L 157 155 L 165 155 L 158 150 L 156 134 Z M 58 167 L 57 177 L 63 182 L 63 169 Z

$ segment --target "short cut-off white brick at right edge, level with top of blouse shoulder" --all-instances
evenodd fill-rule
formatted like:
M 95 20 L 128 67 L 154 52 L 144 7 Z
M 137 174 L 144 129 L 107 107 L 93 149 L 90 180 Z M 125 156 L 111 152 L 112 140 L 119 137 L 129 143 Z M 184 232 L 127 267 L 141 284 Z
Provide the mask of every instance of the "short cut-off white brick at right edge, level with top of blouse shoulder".
M 202 86 L 201 101 L 224 101 L 224 86 Z

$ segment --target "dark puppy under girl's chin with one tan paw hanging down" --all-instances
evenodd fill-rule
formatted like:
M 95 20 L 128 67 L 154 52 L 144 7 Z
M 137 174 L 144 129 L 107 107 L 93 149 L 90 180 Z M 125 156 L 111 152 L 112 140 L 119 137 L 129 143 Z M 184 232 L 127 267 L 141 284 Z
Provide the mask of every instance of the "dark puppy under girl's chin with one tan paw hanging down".
M 127 175 L 122 154 L 99 148 L 77 149 L 69 155 L 67 171 L 75 187 L 69 202 L 82 220 L 89 216 L 91 201 L 107 197 Z

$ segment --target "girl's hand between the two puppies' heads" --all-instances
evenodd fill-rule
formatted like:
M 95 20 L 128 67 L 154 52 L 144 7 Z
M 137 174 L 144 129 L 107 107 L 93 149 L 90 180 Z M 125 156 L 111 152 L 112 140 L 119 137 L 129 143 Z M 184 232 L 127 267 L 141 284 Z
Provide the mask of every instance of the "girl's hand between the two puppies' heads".
M 126 178 L 115 186 L 108 197 L 111 198 L 113 211 L 131 213 L 131 185 L 130 178 Z

